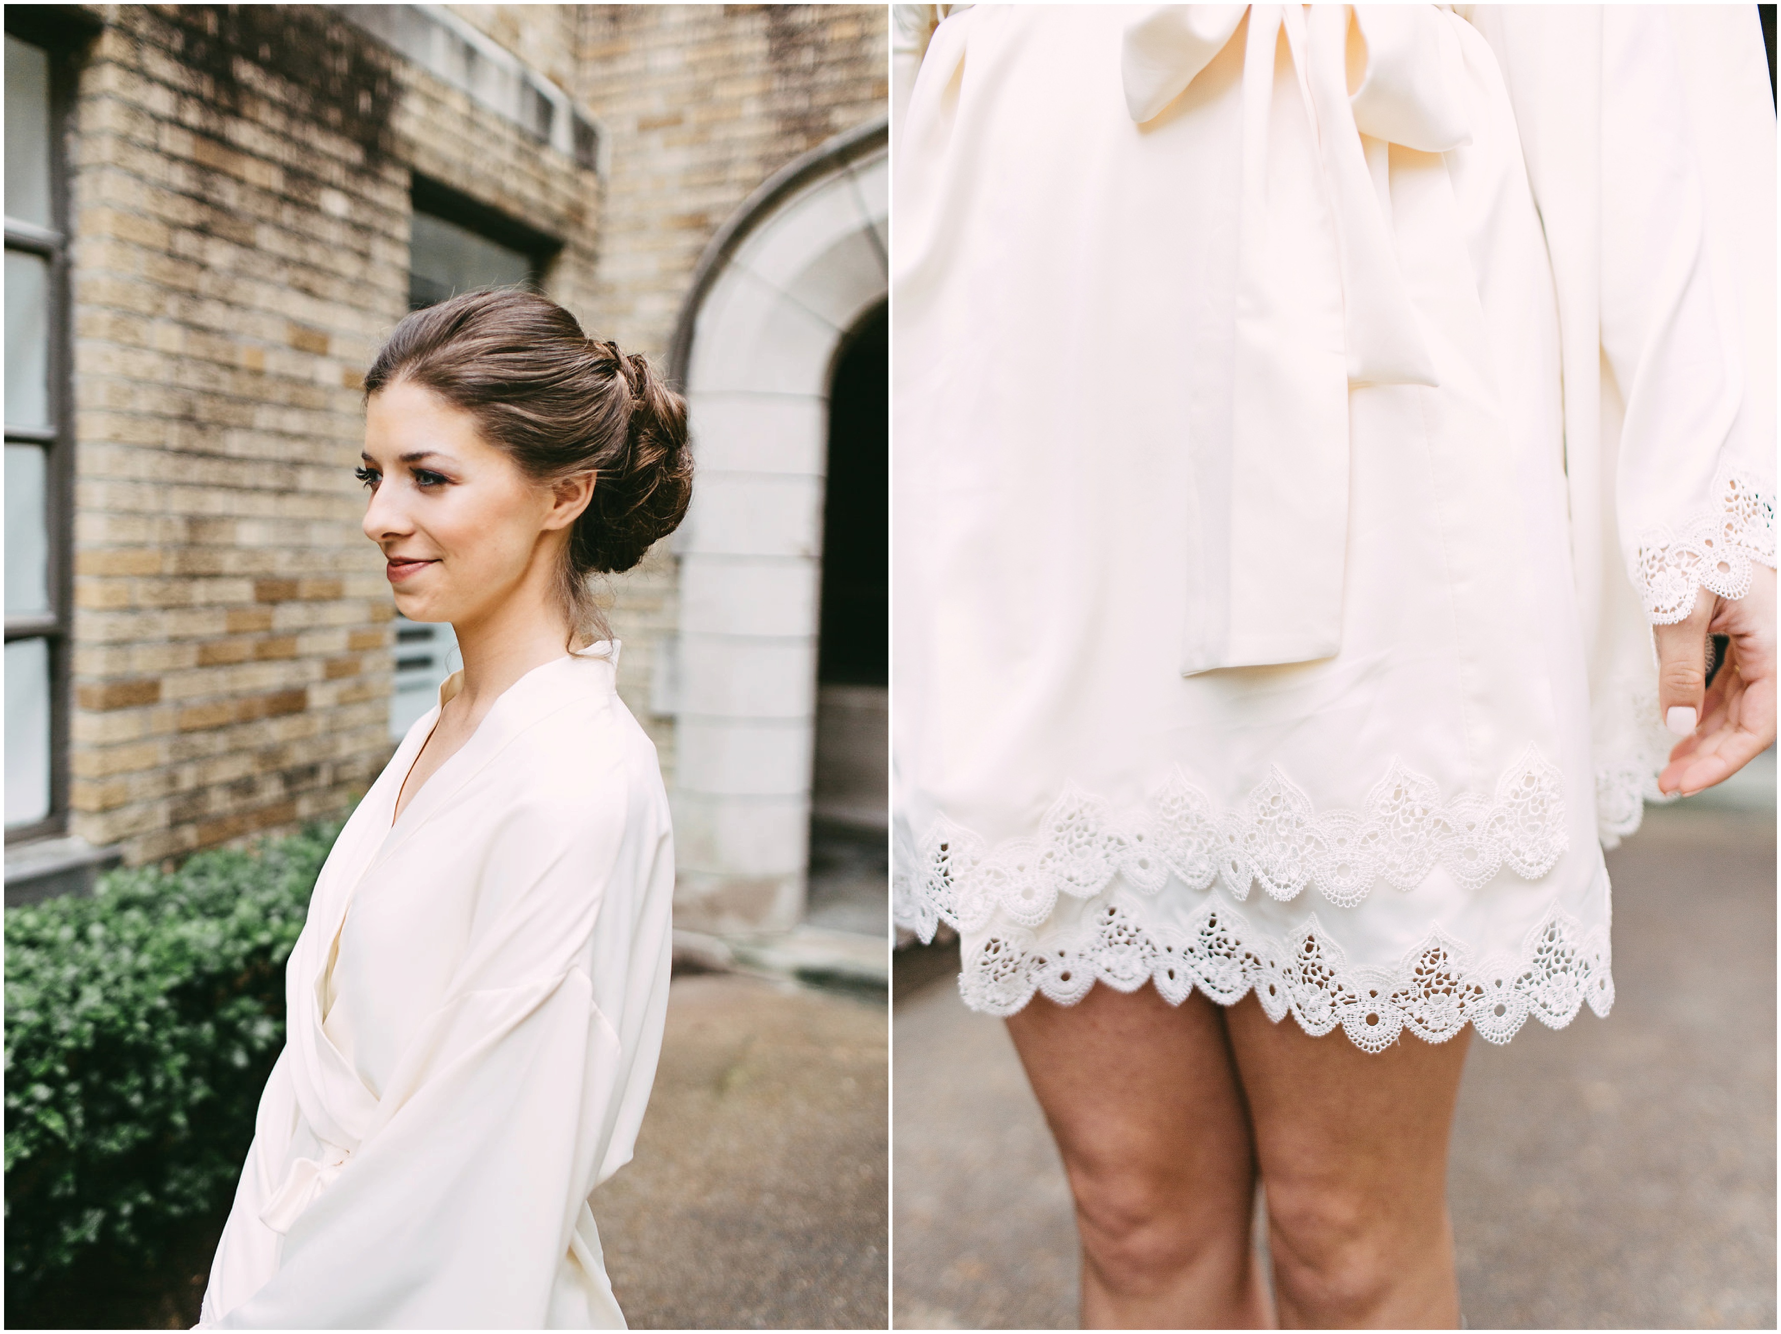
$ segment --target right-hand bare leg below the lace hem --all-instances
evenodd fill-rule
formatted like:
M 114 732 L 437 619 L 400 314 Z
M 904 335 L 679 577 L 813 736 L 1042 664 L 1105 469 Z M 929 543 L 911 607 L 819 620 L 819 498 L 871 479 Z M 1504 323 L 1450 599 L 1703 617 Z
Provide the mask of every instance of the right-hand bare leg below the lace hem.
M 1453 1329 L 1446 1151 L 1468 1028 L 1378 1054 L 1341 1029 L 1225 1013 L 1268 1195 L 1282 1329 Z

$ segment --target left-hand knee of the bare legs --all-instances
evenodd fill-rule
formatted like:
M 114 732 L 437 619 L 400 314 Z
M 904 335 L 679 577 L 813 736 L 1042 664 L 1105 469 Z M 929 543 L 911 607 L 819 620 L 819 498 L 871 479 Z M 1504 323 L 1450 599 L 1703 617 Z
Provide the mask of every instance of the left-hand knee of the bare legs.
M 1070 1190 L 1086 1261 L 1120 1293 L 1168 1288 L 1229 1241 L 1224 1232 L 1247 1232 L 1245 1218 L 1213 1218 L 1191 1188 L 1131 1167 L 1076 1163 Z

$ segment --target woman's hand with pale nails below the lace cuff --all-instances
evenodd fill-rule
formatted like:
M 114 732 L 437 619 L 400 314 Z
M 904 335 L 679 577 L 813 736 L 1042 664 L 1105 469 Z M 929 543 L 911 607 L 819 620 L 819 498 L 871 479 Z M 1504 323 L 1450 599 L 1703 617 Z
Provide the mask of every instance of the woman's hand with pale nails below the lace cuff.
M 1653 632 L 1658 712 L 1683 737 L 1658 787 L 1694 796 L 1729 778 L 1776 739 L 1776 572 L 1753 563 L 1751 591 L 1742 598 L 1729 602 L 1703 588 L 1688 620 L 1655 625 Z M 1706 689 L 1710 634 L 1726 634 L 1731 645 Z

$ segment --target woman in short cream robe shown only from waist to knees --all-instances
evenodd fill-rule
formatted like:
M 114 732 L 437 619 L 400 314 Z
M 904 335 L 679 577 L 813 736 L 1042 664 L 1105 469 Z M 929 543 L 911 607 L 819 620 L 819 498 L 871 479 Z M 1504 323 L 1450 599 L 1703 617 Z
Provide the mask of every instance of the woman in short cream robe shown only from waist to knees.
M 1774 183 L 1749 7 L 939 25 L 899 915 L 1008 1019 L 1085 1323 L 1457 1320 L 1468 1035 L 1606 1015 L 1603 842 L 1776 736 Z

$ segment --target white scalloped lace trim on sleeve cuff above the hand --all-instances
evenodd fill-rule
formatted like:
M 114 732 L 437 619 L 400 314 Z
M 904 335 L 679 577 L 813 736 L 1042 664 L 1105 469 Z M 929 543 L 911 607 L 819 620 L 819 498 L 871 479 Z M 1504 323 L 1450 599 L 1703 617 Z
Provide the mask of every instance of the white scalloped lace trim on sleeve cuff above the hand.
M 1776 504 L 1740 468 L 1713 477 L 1717 508 L 1692 515 L 1681 531 L 1653 527 L 1639 536 L 1633 588 L 1653 625 L 1674 625 L 1694 611 L 1696 590 L 1724 598 L 1751 591 L 1751 561 L 1776 563 Z

